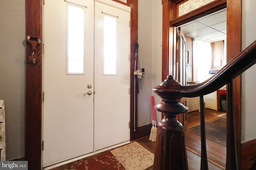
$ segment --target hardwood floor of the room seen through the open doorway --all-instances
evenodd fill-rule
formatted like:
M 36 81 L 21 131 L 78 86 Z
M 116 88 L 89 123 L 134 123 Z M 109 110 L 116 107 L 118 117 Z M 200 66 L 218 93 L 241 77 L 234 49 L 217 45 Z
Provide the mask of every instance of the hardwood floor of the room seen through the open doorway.
M 205 109 L 207 158 L 216 166 L 226 166 L 226 113 Z M 186 148 L 201 155 L 200 113 L 188 113 L 188 129 L 185 133 Z

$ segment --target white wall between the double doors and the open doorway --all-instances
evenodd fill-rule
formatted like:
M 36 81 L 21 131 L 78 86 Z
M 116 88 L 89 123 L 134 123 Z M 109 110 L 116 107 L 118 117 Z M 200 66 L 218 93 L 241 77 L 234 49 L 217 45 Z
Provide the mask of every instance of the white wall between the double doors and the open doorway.
M 152 88 L 162 77 L 162 2 L 138 0 L 138 57 L 145 77 L 139 80 L 138 127 L 152 123 Z M 160 99 L 155 98 L 155 103 Z

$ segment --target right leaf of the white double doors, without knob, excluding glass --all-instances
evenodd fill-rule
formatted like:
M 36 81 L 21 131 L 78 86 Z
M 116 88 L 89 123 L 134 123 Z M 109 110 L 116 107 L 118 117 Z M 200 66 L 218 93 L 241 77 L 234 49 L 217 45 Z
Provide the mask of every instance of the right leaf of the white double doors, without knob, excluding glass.
M 104 15 L 116 18 L 116 75 L 103 75 Z M 95 2 L 95 149 L 129 140 L 130 12 Z M 104 142 L 102 142 L 104 141 Z

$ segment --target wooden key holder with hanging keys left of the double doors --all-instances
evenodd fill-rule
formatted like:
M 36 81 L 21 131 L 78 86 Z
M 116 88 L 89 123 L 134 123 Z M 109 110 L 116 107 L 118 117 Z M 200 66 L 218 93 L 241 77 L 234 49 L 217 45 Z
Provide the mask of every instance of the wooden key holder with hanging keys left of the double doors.
M 34 32 L 34 31 L 33 31 Z M 26 35 L 26 41 L 31 44 L 32 49 L 30 55 L 26 58 L 27 63 L 33 63 L 36 64 L 36 59 L 38 57 L 38 53 L 36 51 L 36 47 L 38 44 L 42 43 L 41 39 L 38 38 L 38 36 L 35 36 L 34 34 L 28 34 Z

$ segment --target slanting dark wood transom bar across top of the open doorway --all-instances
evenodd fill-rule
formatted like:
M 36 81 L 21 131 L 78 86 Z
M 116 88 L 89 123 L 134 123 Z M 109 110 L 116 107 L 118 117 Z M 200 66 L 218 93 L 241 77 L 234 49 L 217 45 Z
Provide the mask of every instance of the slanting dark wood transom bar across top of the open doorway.
M 197 18 L 206 16 L 208 14 L 221 10 L 223 8 L 226 8 L 226 0 L 216 0 L 200 8 L 197 8 L 196 10 L 188 12 L 183 16 L 175 18 L 174 20 L 170 20 L 170 25 L 177 27 L 184 23 L 188 23 L 189 21 L 195 20 Z

